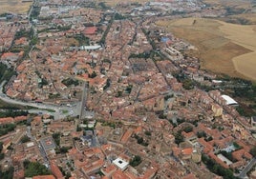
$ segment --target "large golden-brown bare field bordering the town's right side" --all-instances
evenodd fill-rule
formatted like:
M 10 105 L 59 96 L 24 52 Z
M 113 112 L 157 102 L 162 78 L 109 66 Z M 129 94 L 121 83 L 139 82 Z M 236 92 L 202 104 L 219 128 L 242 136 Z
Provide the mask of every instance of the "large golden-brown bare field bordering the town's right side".
M 157 24 L 195 45 L 203 69 L 256 81 L 256 26 L 201 18 Z

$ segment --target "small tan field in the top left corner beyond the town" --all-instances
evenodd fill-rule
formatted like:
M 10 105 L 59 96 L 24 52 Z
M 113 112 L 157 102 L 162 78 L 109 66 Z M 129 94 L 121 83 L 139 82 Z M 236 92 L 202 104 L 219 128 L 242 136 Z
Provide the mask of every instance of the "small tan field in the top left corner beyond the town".
M 0 14 L 6 12 L 26 13 L 32 2 L 22 3 L 22 0 L 0 0 Z

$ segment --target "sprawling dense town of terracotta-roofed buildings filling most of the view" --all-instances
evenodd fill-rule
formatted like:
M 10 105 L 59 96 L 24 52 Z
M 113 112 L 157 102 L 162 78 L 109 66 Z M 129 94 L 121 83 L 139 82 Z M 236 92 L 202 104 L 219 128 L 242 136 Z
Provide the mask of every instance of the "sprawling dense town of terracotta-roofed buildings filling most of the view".
M 256 178 L 255 85 L 203 70 L 157 24 L 225 13 L 34 0 L 1 14 L 0 178 Z

